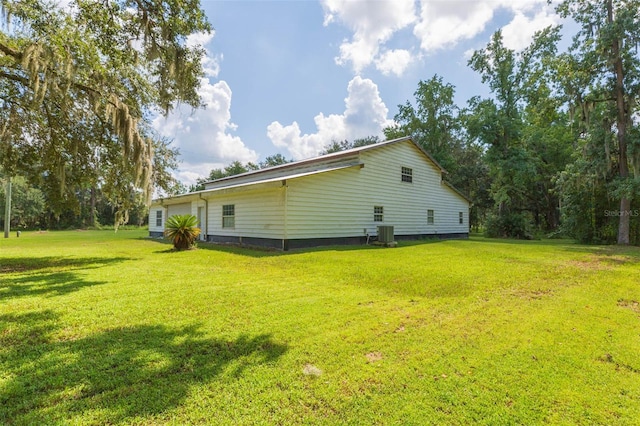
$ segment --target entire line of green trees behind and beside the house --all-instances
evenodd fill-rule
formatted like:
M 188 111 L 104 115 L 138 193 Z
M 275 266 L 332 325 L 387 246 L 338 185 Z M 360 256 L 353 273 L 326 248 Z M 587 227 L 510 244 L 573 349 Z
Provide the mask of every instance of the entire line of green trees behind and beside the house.
M 94 199 L 98 205 L 100 194 L 112 209 L 131 210 L 138 203 L 144 211 L 142 195 L 148 191 L 143 183 L 168 194 L 194 191 L 208 180 L 289 161 L 276 154 L 259 164 L 234 162 L 191 188 L 171 180 L 178 153 L 153 137 L 145 112 L 151 107 L 166 111 L 175 101 L 198 106 L 202 51 L 162 39 L 163 25 L 171 23 L 180 22 L 185 34 L 208 28 L 195 12 L 197 3 L 190 10 L 163 9 L 175 13 L 174 21 L 153 20 L 158 27 L 151 31 L 142 4 L 136 11 L 125 2 L 98 2 L 120 14 L 114 24 L 102 8 L 78 2 L 82 31 L 105 32 L 108 46 L 95 39 L 89 40 L 97 46 L 79 42 L 84 33 L 64 16 L 58 26 L 76 37 L 71 38 L 73 55 L 97 66 L 93 73 L 65 71 L 68 46 L 53 35 L 47 20 L 37 19 L 34 5 L 41 3 L 19 4 L 2 2 L 29 24 L 29 31 L 0 39 L 3 73 L 10 74 L 0 83 L 5 106 L 1 172 L 23 176 L 42 191 L 50 213 L 64 211 L 58 207 L 63 201 L 72 200 L 76 212 Z M 157 12 L 151 9 L 147 13 Z M 490 236 L 567 235 L 582 242 L 640 244 L 640 0 L 565 0 L 557 12 L 577 24 L 571 26 L 577 30 L 568 49 L 559 50 L 560 27 L 538 32 L 522 51 L 506 47 L 498 31 L 468 61 L 490 96 L 456 105 L 455 87 L 435 75 L 420 81 L 415 98 L 398 106 L 395 125 L 384 129 L 384 136 L 410 135 L 428 151 L 448 171 L 446 179 L 473 200 L 472 227 Z M 191 21 L 194 13 L 197 19 Z M 89 25 L 92 20 L 95 26 Z M 133 24 L 125 25 L 128 20 Z M 119 26 L 118 31 L 109 25 Z M 133 49 L 134 54 L 125 48 L 127 39 L 148 46 Z M 90 47 L 104 53 L 92 57 L 83 50 Z M 124 65 L 117 65 L 120 56 Z M 134 72 L 131 79 L 130 56 L 143 56 L 150 71 Z M 177 73 L 180 64 L 189 66 Z M 109 67 L 116 69 L 112 80 Z M 149 77 L 156 84 L 148 84 Z M 128 85 L 137 89 L 135 95 Z M 64 95 L 62 87 L 71 94 Z M 331 141 L 325 153 L 377 141 L 374 136 Z M 164 152 L 162 161 L 152 155 L 154 147 Z M 123 159 L 127 167 L 121 173 Z

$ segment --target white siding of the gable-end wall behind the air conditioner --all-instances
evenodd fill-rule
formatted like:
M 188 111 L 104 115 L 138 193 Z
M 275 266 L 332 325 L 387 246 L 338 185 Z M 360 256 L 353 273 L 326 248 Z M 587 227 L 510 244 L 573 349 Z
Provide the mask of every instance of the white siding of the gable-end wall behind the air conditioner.
M 360 160 L 363 168 L 288 182 L 288 238 L 377 235 L 378 225 L 394 226 L 398 236 L 468 234 L 469 203 L 441 183 L 440 169 L 410 141 L 362 152 Z M 413 170 L 412 183 L 402 182 L 402 167 Z M 374 222 L 374 206 L 384 207 L 382 222 Z M 467 218 L 462 225 L 459 212 Z

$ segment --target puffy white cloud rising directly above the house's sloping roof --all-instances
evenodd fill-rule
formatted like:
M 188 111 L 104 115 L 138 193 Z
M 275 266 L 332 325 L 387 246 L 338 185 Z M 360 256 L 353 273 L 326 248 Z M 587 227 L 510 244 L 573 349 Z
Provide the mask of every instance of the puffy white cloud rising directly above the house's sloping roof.
M 380 135 L 384 127 L 392 124 L 373 81 L 356 76 L 349 82 L 347 92 L 344 113 L 315 116 L 316 133 L 303 135 L 295 121 L 288 126 L 274 121 L 267 127 L 267 136 L 276 147 L 286 148 L 299 160 L 317 155 L 332 140 L 353 141 Z

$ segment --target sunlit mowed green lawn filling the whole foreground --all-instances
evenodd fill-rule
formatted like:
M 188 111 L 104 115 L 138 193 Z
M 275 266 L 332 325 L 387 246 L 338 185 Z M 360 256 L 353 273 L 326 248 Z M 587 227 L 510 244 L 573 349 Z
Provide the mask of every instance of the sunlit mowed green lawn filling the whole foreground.
M 0 240 L 0 424 L 638 424 L 640 250 Z

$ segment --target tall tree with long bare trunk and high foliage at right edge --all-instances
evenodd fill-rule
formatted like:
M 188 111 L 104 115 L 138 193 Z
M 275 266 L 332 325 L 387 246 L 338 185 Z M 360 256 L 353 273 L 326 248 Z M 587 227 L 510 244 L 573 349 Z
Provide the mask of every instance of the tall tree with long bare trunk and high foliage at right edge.
M 565 67 L 561 80 L 572 106 L 586 122 L 596 104 L 610 105 L 613 120 L 606 123 L 613 124 L 610 130 L 616 136 L 610 164 L 617 169 L 617 177 L 608 192 L 619 200 L 617 242 L 629 244 L 631 202 L 640 187 L 640 149 L 630 136 L 636 131 L 633 117 L 640 109 L 640 1 L 565 0 L 558 12 L 580 26 L 564 57 L 565 64 L 574 66 Z M 577 86 L 571 79 L 584 84 Z

